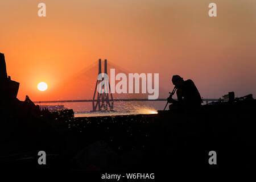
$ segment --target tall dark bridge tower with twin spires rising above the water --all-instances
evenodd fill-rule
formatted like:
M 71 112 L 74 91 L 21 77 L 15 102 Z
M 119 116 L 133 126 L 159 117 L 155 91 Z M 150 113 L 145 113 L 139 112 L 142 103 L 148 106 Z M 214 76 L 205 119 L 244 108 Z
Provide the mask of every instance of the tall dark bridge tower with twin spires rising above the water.
M 101 72 L 101 59 L 98 60 L 98 75 L 102 74 Z M 104 74 L 108 75 L 108 68 L 107 68 L 107 60 L 105 59 L 105 71 Z M 100 77 L 99 77 L 100 78 Z M 104 84 L 101 85 L 101 83 L 104 82 Z M 106 87 L 105 87 L 106 86 Z M 108 90 L 108 92 L 104 92 L 104 90 Z M 102 93 L 98 92 L 98 91 L 102 91 Z M 97 100 L 96 100 L 96 92 L 97 92 Z M 110 97 L 109 98 L 109 94 Z M 94 103 L 96 102 L 96 104 Z M 95 86 L 95 90 L 94 90 L 94 94 L 93 94 L 93 111 L 101 111 L 102 108 L 104 109 L 104 111 L 110 109 L 113 110 L 114 107 L 114 100 L 113 100 L 113 96 L 110 90 L 110 84 L 109 84 L 109 80 L 104 79 L 104 77 L 101 77 L 101 80 L 98 80 L 97 78 L 97 82 L 96 82 L 96 86 Z

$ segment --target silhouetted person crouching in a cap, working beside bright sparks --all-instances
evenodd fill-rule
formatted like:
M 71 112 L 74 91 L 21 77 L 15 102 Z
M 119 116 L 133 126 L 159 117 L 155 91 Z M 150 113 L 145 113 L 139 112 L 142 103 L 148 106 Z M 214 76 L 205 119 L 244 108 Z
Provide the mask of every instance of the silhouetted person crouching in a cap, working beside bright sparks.
M 192 80 L 184 81 L 179 75 L 172 76 L 172 83 L 176 87 L 177 101 L 169 97 L 167 101 L 172 103 L 169 105 L 170 110 L 181 108 L 199 107 L 203 102 L 196 85 Z

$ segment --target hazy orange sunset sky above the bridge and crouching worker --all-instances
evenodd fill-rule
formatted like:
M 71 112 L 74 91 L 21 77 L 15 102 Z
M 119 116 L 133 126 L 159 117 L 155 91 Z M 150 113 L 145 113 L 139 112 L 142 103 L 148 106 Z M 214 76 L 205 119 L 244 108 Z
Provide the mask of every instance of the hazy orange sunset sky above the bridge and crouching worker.
M 37 15 L 40 2 L 46 18 Z M 216 18 L 208 16 L 210 2 Z M 20 100 L 59 99 L 54 88 L 98 58 L 131 73 L 159 73 L 167 90 L 179 74 L 204 98 L 256 94 L 254 0 L 8 0 L 0 2 L 0 17 L 0 52 L 20 82 Z M 37 90 L 40 81 L 46 92 Z

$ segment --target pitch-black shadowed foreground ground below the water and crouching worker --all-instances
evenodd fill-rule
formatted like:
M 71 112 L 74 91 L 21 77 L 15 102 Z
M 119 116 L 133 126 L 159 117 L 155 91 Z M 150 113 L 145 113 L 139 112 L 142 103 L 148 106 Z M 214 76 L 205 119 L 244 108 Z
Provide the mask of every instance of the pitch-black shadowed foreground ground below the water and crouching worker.
M 0 111 L 1 168 L 154 173 L 256 164 L 255 100 L 115 117 L 27 111 Z M 38 164 L 39 151 L 46 151 L 46 165 Z M 209 151 L 216 151 L 217 165 L 209 164 Z

